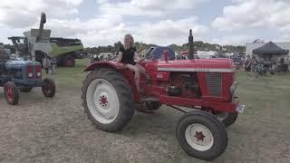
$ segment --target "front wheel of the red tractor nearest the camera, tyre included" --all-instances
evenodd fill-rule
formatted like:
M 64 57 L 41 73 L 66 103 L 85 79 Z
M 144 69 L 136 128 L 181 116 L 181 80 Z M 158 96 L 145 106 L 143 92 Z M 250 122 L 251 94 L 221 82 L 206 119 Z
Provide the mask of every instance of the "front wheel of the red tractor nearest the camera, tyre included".
M 190 156 L 211 160 L 227 148 L 227 131 L 210 113 L 193 110 L 179 119 L 176 129 L 179 145 Z

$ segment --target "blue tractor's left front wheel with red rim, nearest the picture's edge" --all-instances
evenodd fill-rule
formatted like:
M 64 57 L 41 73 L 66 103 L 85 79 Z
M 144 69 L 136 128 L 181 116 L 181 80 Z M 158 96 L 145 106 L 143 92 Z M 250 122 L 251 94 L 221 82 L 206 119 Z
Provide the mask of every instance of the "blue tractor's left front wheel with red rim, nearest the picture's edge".
M 14 82 L 4 84 L 5 98 L 8 104 L 16 105 L 19 101 L 19 91 Z

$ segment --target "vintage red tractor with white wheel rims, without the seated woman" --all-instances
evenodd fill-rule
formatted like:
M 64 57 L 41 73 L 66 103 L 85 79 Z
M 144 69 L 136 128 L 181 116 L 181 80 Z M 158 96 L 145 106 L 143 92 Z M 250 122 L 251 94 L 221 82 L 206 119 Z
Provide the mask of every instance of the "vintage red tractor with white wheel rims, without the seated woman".
M 189 44 L 192 44 L 190 31 Z M 191 52 L 190 52 L 191 51 Z M 192 53 L 189 49 L 189 52 Z M 93 62 L 82 86 L 82 105 L 98 129 L 121 130 L 134 111 L 153 112 L 161 105 L 185 112 L 179 119 L 176 136 L 190 156 L 214 159 L 227 148 L 225 127 L 237 120 L 235 66 L 229 59 L 144 61 L 150 75 L 140 77 L 137 91 L 134 75 L 120 62 Z M 191 108 L 190 111 L 179 107 Z

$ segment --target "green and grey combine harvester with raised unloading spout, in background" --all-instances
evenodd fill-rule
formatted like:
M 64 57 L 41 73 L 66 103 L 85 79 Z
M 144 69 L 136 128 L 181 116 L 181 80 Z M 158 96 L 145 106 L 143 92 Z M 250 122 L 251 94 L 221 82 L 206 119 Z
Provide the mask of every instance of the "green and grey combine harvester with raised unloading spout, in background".
M 43 29 L 46 16 L 43 13 L 39 29 L 24 32 L 24 36 L 8 37 L 14 44 L 14 51 L 20 56 L 43 62 L 43 57 L 55 58 L 58 66 L 73 67 L 75 59 L 83 58 L 83 45 L 79 39 L 50 37 L 51 30 Z

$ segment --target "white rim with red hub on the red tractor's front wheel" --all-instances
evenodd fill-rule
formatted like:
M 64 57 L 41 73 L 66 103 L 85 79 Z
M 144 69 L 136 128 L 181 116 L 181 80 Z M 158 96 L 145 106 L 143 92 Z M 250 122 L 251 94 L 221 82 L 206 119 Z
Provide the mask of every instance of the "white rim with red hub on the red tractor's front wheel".
M 202 124 L 192 124 L 185 131 L 185 138 L 189 146 L 199 151 L 211 149 L 214 144 L 214 137 L 211 131 Z

